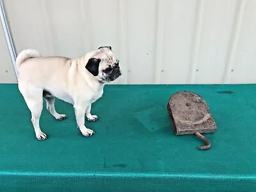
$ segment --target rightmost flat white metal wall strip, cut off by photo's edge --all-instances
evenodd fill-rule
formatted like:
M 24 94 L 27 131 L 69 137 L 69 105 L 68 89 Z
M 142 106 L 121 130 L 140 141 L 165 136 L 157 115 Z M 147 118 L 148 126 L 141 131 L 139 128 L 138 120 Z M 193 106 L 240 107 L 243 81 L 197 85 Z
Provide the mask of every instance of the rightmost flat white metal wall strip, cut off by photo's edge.
M 227 81 L 256 83 L 256 1 L 245 1 L 240 12 Z

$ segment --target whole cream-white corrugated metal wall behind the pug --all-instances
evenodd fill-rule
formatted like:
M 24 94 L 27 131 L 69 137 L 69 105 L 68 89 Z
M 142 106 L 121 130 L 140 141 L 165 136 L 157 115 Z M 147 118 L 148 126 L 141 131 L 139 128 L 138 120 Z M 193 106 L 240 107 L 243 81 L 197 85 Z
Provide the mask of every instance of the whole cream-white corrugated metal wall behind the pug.
M 124 72 L 120 84 L 256 83 L 255 0 L 5 0 L 4 5 L 17 53 L 34 48 L 76 57 L 111 45 Z

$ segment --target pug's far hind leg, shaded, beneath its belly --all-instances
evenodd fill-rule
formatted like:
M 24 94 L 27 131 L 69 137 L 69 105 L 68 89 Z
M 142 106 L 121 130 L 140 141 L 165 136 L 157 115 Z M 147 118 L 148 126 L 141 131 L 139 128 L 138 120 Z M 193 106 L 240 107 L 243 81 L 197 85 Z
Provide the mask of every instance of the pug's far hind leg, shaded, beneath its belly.
M 56 118 L 56 120 L 63 120 L 67 118 L 67 115 L 64 114 L 59 114 L 55 110 L 54 102 L 55 102 L 55 97 L 52 95 L 50 92 L 43 91 L 43 97 L 46 101 L 46 108 L 47 110 L 51 113 L 52 116 Z

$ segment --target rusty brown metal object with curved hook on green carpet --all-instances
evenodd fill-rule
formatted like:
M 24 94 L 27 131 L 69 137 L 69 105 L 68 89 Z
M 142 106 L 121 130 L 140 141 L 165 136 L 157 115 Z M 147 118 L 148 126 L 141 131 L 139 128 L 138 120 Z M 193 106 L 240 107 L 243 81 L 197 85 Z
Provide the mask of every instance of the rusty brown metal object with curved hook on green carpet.
M 216 124 L 202 97 L 193 92 L 177 92 L 170 98 L 167 109 L 175 135 L 195 134 L 205 142 L 198 147 L 200 150 L 211 147 L 202 133 L 215 132 Z

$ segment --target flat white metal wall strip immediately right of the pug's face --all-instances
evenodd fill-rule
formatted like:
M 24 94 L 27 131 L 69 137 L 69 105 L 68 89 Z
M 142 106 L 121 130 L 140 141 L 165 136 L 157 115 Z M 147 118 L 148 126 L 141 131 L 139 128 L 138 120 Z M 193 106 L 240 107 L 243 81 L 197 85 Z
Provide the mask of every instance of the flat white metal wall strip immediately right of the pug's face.
M 156 55 L 156 1 L 126 1 L 128 82 L 154 81 Z

